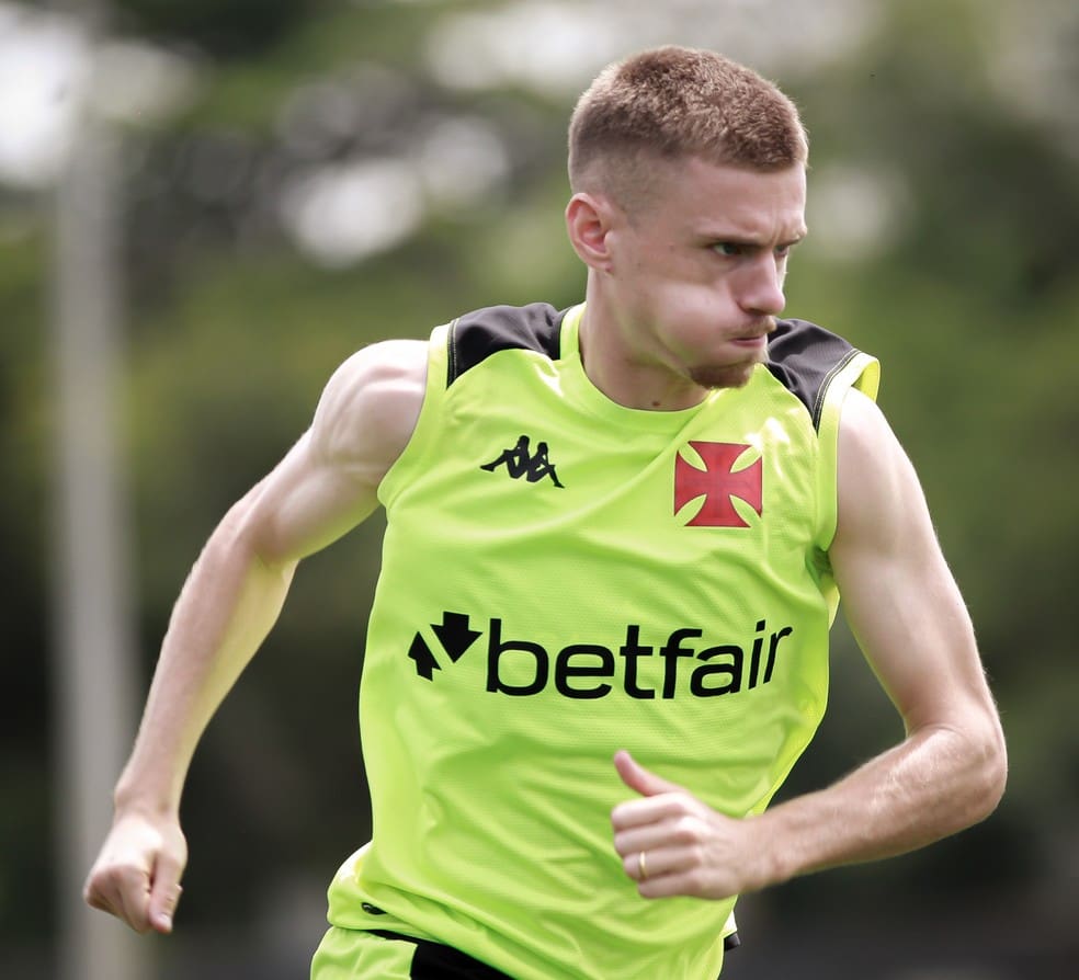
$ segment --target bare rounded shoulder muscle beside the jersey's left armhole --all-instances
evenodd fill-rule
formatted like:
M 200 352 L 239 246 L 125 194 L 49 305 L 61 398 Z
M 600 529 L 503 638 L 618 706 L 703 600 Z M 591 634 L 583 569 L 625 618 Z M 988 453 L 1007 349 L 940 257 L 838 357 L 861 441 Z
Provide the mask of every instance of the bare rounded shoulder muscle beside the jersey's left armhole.
M 427 341 L 364 347 L 333 373 L 311 424 L 311 451 L 364 482 L 377 483 L 416 429 L 427 385 Z

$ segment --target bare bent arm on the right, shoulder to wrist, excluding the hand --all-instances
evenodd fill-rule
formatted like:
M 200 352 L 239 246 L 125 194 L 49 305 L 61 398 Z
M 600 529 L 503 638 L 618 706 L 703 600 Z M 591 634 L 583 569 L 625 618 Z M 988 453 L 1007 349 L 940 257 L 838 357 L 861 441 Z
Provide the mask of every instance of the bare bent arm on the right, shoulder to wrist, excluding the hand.
M 847 619 L 906 738 L 830 789 L 777 807 L 779 878 L 898 854 L 987 817 L 1006 752 L 974 629 L 913 468 L 879 410 L 852 392 L 839 457 L 832 567 Z

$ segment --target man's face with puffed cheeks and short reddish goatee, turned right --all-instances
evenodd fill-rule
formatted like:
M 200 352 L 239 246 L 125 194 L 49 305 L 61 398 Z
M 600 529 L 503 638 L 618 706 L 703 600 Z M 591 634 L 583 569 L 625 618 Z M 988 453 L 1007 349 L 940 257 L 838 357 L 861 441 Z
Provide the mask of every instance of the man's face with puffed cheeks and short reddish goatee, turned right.
M 745 385 L 783 310 L 806 233 L 805 168 L 658 161 L 646 203 L 611 231 L 606 292 L 635 369 L 667 390 Z

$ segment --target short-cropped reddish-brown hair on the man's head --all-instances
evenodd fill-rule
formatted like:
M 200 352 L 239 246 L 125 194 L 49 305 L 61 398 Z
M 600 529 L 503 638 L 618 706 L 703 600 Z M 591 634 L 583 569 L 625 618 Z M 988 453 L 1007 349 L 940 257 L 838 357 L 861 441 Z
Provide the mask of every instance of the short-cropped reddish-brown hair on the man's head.
M 572 190 L 616 197 L 649 156 L 777 171 L 805 164 L 808 153 L 798 110 L 783 92 L 743 65 L 695 48 L 666 46 L 609 65 L 569 124 Z

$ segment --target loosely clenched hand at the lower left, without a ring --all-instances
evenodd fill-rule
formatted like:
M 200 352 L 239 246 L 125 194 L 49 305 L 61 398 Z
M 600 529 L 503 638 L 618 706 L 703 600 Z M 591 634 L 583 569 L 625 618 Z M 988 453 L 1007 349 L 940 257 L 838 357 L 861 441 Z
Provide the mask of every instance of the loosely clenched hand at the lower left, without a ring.
M 135 932 L 172 932 L 188 843 L 175 820 L 118 817 L 87 878 L 83 898 Z

